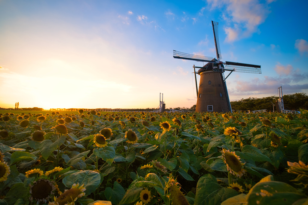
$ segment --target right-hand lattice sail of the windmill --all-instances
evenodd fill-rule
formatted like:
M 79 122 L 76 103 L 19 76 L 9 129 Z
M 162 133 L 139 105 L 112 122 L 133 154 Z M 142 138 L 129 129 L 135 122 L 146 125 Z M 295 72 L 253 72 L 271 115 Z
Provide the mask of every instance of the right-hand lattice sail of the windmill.
M 225 70 L 241 73 L 261 73 L 261 65 L 235 63 L 226 61 Z

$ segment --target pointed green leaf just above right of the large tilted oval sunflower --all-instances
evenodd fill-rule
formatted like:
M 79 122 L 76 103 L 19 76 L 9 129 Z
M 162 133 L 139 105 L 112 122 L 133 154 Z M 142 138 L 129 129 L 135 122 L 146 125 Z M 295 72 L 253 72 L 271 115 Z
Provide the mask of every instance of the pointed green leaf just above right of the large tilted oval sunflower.
M 236 151 L 235 153 L 243 159 L 252 159 L 256 162 L 271 161 L 268 156 L 264 155 L 258 148 L 251 145 L 245 145 L 242 152 Z

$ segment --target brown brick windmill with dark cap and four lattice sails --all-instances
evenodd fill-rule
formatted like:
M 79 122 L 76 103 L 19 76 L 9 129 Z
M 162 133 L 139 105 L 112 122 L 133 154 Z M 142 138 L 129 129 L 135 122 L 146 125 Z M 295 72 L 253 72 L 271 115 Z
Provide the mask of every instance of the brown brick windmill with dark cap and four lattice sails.
M 218 40 L 218 23 L 212 21 L 212 26 L 217 59 L 213 57 L 182 53 L 175 50 L 173 50 L 173 57 L 185 60 L 208 62 L 203 67 L 193 66 L 194 69 L 199 68 L 198 74 L 200 75 L 199 91 L 196 88 L 196 112 L 232 112 L 225 80 L 232 72 L 261 73 L 261 65 L 230 61 L 222 62 Z M 225 77 L 225 71 L 230 71 L 227 77 Z

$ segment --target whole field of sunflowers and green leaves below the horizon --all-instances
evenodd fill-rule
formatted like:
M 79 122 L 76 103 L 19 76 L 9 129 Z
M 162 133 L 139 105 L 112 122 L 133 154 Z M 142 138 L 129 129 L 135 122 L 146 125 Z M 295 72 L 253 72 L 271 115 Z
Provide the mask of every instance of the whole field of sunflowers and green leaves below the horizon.
M 0 115 L 0 205 L 308 204 L 307 110 Z

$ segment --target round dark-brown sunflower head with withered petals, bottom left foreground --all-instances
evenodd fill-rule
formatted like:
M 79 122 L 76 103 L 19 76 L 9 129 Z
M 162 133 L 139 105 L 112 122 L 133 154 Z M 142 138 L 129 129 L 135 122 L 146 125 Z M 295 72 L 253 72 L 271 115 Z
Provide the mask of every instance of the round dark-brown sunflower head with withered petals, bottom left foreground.
M 36 201 L 39 203 L 47 203 L 56 192 L 56 187 L 53 181 L 48 179 L 39 179 L 34 181 L 30 187 L 30 201 Z

